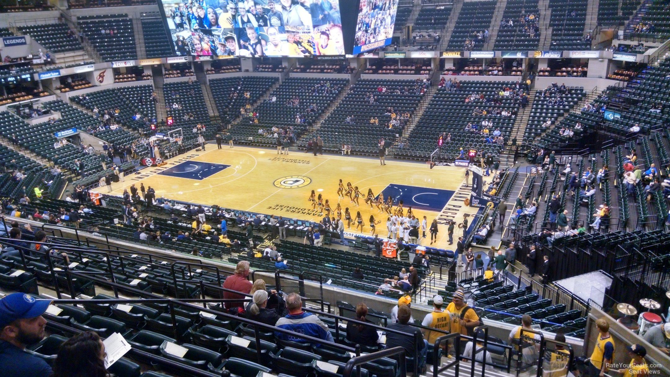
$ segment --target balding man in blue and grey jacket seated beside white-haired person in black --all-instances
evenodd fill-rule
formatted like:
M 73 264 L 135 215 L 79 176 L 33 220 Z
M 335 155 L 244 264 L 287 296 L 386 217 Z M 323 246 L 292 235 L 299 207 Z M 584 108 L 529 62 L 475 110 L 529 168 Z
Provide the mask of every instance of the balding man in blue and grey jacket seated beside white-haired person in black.
M 302 311 L 302 300 L 297 293 L 289 293 L 286 298 L 286 307 L 289 313 L 286 317 L 279 318 L 276 324 L 277 327 L 316 337 L 326 342 L 333 342 L 333 337 L 330 334 L 330 331 L 328 331 L 328 325 L 323 323 L 316 315 Z M 275 331 L 275 337 L 280 340 L 308 343 L 308 341 L 302 337 L 293 334 L 280 333 L 278 331 Z M 319 345 L 315 344 L 314 346 Z

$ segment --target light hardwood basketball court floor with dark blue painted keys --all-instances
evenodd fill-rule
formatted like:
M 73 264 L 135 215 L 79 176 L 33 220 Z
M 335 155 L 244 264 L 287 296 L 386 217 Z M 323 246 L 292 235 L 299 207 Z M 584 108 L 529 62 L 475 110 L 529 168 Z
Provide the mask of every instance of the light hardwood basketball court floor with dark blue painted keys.
M 369 188 L 375 196 L 380 192 L 386 197 L 393 196 L 395 204 L 403 200 L 405 208 L 411 206 L 419 219 L 427 216 L 430 224 L 450 200 L 453 204 L 455 199 L 452 196 L 456 190 L 462 189 L 464 181 L 464 170 L 460 167 L 429 169 L 425 163 L 404 161 L 387 161 L 387 165 L 381 166 L 378 159 L 314 156 L 302 152 L 277 155 L 273 149 L 230 149 L 227 146 L 216 149 L 216 145 L 212 144 L 208 144 L 204 152 L 192 151 L 167 162 L 162 167 L 149 167 L 141 170 L 141 174 L 128 175 L 125 182 L 114 183 L 114 194 L 121 195 L 123 188 L 130 187 L 132 183 L 138 188 L 139 183 L 143 183 L 145 187 L 153 187 L 157 197 L 319 221 L 324 215 L 308 202 L 310 192 L 315 190 L 317 195 L 322 194 L 324 202 L 330 200 L 331 208 L 335 210 L 338 179 L 341 178 L 345 187 L 349 181 L 361 192 L 358 207 L 350 203 L 349 198 L 339 199 L 342 217 L 346 207 L 352 219 L 360 211 L 365 225 L 362 233 L 370 234 L 369 219 L 372 214 L 381 221 L 377 224 L 377 231 L 385 237 L 387 215 L 364 203 Z M 459 204 L 462 204 L 461 201 L 458 199 Z M 462 206 L 458 211 L 458 215 L 456 212 L 452 214 L 460 222 L 462 213 L 474 214 L 476 208 Z M 360 233 L 356 232 L 355 224 L 352 223 L 350 229 L 346 228 L 346 221 L 344 225 L 346 232 Z M 446 226 L 440 225 L 440 247 L 448 246 L 446 233 Z M 459 235 L 460 231 L 456 230 L 455 238 Z M 429 240 L 422 243 L 429 244 Z

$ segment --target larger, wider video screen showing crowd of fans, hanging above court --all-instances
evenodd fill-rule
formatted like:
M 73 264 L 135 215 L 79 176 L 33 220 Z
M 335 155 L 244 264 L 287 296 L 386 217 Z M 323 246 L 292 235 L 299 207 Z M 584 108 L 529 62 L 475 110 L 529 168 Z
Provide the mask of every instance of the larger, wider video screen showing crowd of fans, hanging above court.
M 338 0 L 163 0 L 162 8 L 180 56 L 344 55 Z

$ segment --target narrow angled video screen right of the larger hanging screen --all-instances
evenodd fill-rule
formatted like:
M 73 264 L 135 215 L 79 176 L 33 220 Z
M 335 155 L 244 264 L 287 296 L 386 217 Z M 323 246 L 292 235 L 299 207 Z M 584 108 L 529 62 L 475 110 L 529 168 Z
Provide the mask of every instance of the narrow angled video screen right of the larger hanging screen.
M 354 54 L 391 44 L 398 0 L 360 0 Z

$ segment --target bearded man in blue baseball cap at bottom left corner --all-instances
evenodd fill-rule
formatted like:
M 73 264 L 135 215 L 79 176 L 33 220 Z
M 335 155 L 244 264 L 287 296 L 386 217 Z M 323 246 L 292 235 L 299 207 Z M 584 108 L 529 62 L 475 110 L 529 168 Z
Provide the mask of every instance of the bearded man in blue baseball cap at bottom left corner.
M 48 377 L 51 367 L 43 359 L 25 352 L 25 347 L 44 337 L 42 314 L 49 300 L 36 300 L 26 293 L 12 293 L 0 300 L 0 366 L 8 376 Z

